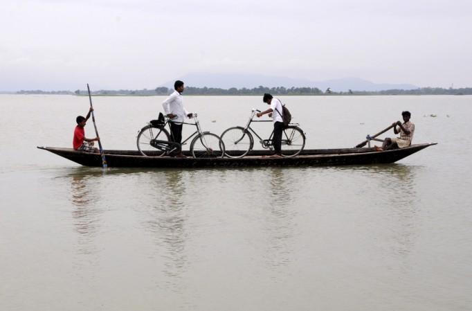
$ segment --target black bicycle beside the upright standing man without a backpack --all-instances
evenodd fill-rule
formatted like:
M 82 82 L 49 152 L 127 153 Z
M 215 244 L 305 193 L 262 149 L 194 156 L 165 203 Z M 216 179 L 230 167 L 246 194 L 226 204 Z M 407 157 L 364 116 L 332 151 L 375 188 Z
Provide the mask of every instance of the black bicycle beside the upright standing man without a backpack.
M 149 123 L 138 132 L 136 143 L 141 154 L 147 157 L 162 157 L 172 153 L 181 152 L 182 145 L 185 145 L 192 137 L 194 139 L 190 143 L 190 154 L 194 158 L 222 158 L 224 157 L 224 143 L 217 134 L 210 132 L 202 132 L 197 114 L 192 114 L 194 123 L 179 123 L 194 125 L 197 130 L 181 144 L 172 141 L 170 136 L 170 118 L 159 114 L 157 120 L 149 121 Z M 169 126 L 169 131 L 165 129 L 165 125 Z

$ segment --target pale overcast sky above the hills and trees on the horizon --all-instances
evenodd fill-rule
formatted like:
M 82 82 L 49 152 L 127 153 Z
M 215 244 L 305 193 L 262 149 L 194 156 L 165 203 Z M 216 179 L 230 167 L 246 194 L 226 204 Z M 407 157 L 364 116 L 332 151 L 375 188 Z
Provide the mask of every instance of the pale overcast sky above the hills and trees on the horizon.
M 0 4 L 0 91 L 151 89 L 195 72 L 472 87 L 471 0 Z

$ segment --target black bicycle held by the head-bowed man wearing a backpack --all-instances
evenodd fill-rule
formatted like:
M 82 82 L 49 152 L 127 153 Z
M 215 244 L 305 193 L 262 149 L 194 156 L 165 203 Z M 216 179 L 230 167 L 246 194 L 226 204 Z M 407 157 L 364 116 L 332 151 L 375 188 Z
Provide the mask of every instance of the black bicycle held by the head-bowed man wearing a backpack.
M 221 134 L 221 140 L 226 147 L 225 155 L 230 158 L 242 158 L 254 147 L 253 134 L 259 139 L 262 148 L 273 150 L 273 131 L 269 139 L 262 139 L 252 128 L 253 122 L 272 122 L 254 121 L 253 118 L 260 110 L 253 109 L 251 118 L 245 127 L 230 127 Z M 253 132 L 253 134 L 251 134 Z M 290 123 L 282 132 L 282 157 L 295 157 L 305 148 L 305 133 L 298 127 L 297 123 Z

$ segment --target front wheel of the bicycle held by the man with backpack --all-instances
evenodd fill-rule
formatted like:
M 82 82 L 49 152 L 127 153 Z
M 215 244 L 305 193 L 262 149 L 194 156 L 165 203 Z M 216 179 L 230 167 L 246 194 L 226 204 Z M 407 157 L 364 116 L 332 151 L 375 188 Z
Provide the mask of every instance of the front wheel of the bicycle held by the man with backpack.
M 244 132 L 244 127 L 230 127 L 221 134 L 226 157 L 242 158 L 253 148 L 253 135 Z

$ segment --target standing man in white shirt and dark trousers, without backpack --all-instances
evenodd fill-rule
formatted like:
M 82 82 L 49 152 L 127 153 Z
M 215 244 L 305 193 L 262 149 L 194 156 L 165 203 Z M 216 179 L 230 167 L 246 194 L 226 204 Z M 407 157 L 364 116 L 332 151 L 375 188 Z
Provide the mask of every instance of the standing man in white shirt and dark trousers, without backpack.
M 192 118 L 185 107 L 183 107 L 182 92 L 185 89 L 181 80 L 174 82 L 174 93 L 170 94 L 166 100 L 163 101 L 162 107 L 164 108 L 165 114 L 171 119 L 170 121 L 170 134 L 172 141 L 176 143 L 182 142 L 182 127 L 185 116 Z M 176 157 L 185 157 L 182 153 L 176 155 Z

